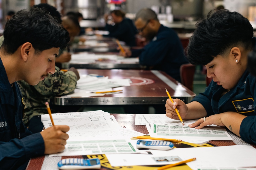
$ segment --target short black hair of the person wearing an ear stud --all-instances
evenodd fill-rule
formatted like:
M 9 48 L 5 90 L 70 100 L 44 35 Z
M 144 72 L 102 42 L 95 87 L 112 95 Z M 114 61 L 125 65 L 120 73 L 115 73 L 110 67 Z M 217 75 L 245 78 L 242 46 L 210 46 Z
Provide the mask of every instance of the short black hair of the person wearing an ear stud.
M 252 49 L 253 28 L 248 19 L 227 9 L 212 10 L 196 23 L 185 54 L 191 64 L 206 65 L 235 45 Z

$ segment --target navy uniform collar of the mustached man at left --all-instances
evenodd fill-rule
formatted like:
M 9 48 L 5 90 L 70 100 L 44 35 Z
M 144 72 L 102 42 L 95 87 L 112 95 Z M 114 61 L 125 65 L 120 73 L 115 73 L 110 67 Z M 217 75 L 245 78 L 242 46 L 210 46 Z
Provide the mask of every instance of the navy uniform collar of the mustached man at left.
M 9 83 L 3 62 L 0 58 L 0 98 L 1 104 L 11 104 L 14 106 L 14 96 L 12 86 Z M 16 82 L 15 82 L 16 83 Z M 15 85 L 15 83 L 13 83 Z

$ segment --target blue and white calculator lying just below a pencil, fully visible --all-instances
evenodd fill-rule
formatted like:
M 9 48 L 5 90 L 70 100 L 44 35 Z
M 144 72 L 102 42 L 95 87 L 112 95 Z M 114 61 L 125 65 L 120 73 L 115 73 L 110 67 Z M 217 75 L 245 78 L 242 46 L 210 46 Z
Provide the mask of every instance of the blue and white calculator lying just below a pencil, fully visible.
M 174 147 L 172 142 L 164 140 L 138 140 L 136 144 L 137 149 L 156 149 L 156 150 L 170 150 Z

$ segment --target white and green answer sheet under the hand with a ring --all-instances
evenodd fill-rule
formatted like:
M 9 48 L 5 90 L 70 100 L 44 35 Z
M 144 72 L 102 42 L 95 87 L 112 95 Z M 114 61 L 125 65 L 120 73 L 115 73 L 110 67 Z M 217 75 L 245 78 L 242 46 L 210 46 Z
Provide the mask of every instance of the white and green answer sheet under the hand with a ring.
M 184 126 L 180 121 L 165 124 L 147 123 L 151 137 L 181 140 L 232 140 L 227 130 L 219 126 L 206 126 L 201 129 L 190 128 L 188 124 L 196 120 L 186 120 Z

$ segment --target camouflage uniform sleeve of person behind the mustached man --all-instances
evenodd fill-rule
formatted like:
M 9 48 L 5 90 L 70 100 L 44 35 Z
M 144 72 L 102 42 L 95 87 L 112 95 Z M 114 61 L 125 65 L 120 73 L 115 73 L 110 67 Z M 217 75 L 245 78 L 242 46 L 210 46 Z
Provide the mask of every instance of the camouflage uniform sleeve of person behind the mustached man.
M 77 76 L 73 71 L 64 73 L 55 67 L 55 73 L 49 74 L 37 85 L 31 86 L 25 81 L 17 81 L 25 104 L 25 114 L 23 122 L 28 121 L 39 114 L 48 114 L 45 102 L 50 102 L 55 96 L 66 95 L 76 88 Z M 52 113 L 56 111 L 51 110 Z

